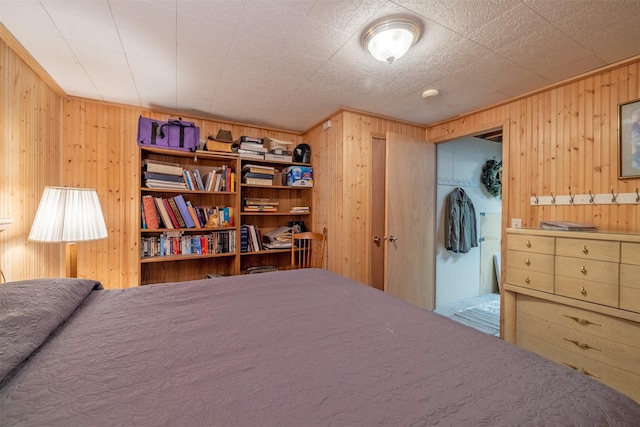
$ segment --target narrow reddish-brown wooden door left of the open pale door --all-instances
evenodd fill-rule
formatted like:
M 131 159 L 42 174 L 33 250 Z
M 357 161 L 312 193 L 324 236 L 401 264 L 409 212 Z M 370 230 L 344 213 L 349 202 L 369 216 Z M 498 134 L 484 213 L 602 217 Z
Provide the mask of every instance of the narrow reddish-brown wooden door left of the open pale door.
M 371 138 L 371 262 L 370 282 L 373 288 L 384 290 L 385 180 L 386 147 L 383 138 Z

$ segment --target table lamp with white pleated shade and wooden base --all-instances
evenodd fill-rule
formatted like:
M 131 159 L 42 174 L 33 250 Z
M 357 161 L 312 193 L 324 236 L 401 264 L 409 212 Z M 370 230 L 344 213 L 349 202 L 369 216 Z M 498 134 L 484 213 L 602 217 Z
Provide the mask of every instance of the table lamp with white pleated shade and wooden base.
M 45 187 L 29 240 L 65 242 L 67 277 L 78 277 L 76 242 L 106 237 L 107 227 L 96 190 Z

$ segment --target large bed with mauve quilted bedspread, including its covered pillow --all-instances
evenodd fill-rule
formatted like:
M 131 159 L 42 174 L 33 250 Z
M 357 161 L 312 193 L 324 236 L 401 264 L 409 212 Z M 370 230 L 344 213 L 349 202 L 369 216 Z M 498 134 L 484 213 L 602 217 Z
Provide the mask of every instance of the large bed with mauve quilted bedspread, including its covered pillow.
M 0 286 L 0 425 L 640 425 L 568 367 L 325 270 Z

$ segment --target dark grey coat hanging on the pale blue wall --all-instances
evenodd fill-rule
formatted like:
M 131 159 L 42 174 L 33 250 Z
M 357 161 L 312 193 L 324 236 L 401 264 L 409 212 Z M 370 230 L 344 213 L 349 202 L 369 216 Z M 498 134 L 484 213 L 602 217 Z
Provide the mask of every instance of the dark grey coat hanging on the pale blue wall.
M 462 188 L 456 188 L 445 204 L 444 242 L 447 250 L 467 253 L 478 246 L 476 210 Z

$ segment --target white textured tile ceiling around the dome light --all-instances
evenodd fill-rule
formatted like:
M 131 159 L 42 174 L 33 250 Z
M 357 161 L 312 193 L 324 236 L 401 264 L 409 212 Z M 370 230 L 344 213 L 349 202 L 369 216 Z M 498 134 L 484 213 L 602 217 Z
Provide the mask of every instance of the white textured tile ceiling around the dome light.
M 424 31 L 389 65 L 360 39 L 392 14 Z M 0 22 L 69 95 L 293 131 L 430 124 L 640 54 L 640 0 L 0 0 Z

